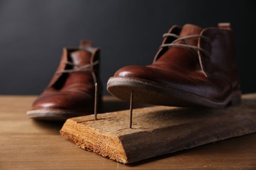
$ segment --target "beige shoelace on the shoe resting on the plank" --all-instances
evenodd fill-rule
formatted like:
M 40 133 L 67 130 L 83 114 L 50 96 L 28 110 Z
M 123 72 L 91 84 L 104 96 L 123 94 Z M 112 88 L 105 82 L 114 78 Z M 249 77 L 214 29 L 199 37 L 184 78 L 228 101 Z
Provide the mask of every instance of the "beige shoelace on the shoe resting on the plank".
M 184 37 L 179 37 L 179 35 L 176 35 L 176 34 L 173 34 L 173 33 L 165 33 L 165 34 L 163 34 L 163 38 L 165 38 L 165 37 L 175 37 L 177 39 L 175 41 L 169 43 L 169 44 L 162 44 L 160 46 L 160 48 L 167 47 L 167 46 L 168 47 L 179 46 L 179 47 L 191 48 L 194 52 L 196 52 L 196 54 L 198 54 L 198 58 L 199 58 L 199 61 L 200 61 L 200 67 L 201 67 L 201 69 L 203 71 L 203 74 L 205 76 L 207 76 L 207 74 L 205 73 L 205 71 L 203 69 L 200 52 L 203 52 L 203 54 L 205 54 L 205 56 L 207 56 L 208 58 L 210 56 L 209 53 L 206 50 L 203 50 L 203 48 L 200 48 L 200 46 L 191 45 L 188 41 L 186 41 L 186 39 L 202 38 L 202 39 L 204 39 L 207 42 L 211 42 L 207 37 L 205 37 L 203 35 L 188 35 L 188 36 L 184 36 Z M 178 41 L 183 41 L 186 44 L 175 43 L 175 42 L 178 42 Z

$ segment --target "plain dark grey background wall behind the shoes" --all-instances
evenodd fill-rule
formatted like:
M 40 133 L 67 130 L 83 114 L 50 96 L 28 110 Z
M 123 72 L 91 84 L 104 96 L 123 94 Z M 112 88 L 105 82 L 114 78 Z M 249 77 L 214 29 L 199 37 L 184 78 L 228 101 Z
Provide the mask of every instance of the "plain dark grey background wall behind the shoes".
M 242 92 L 256 92 L 256 1 L 0 1 L 0 94 L 39 94 L 62 47 L 91 39 L 106 82 L 125 65 L 152 63 L 171 25 L 231 22 Z

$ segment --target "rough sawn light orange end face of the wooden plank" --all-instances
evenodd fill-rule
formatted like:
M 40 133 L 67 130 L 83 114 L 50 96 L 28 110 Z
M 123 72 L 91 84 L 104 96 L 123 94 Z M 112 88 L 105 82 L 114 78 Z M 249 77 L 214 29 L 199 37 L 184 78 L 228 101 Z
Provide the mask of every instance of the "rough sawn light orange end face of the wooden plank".
M 65 126 L 60 130 L 60 134 L 85 150 L 92 150 L 101 156 L 108 156 L 110 159 L 119 162 L 127 160 L 125 150 L 123 150 L 118 137 L 109 133 L 102 133 L 98 129 L 89 126 L 77 124 L 72 118 L 66 120 Z

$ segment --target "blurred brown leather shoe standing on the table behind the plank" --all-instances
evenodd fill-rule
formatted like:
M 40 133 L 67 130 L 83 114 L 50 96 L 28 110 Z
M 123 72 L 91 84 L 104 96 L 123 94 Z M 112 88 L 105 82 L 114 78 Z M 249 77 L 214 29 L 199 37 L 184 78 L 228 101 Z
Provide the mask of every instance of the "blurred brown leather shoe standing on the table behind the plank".
M 99 77 L 99 48 L 81 41 L 77 48 L 64 48 L 60 65 L 49 86 L 33 102 L 29 118 L 66 120 L 93 114 L 95 82 Z M 99 83 L 99 82 L 98 82 Z M 101 95 L 98 96 L 98 102 Z

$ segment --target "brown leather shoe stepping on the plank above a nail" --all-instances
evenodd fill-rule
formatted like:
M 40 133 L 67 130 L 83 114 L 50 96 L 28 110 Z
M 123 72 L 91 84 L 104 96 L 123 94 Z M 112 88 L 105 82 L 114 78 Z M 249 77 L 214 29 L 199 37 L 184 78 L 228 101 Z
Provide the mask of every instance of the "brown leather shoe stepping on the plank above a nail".
M 223 108 L 240 103 L 230 24 L 171 27 L 151 65 L 127 66 L 108 80 L 119 99 L 178 107 Z

